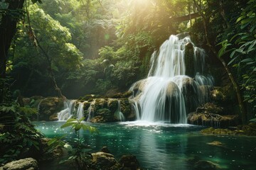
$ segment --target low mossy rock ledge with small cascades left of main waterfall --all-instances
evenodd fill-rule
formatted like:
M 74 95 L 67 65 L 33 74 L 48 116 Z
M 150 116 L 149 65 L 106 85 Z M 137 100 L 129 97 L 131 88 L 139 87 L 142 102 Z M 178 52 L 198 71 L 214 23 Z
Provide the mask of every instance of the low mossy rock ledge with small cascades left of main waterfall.
M 94 98 L 90 101 L 65 101 L 63 111 L 58 113 L 58 120 L 85 118 L 87 122 L 107 123 L 129 120 L 132 107 L 127 98 Z M 126 118 L 125 118 L 126 117 Z

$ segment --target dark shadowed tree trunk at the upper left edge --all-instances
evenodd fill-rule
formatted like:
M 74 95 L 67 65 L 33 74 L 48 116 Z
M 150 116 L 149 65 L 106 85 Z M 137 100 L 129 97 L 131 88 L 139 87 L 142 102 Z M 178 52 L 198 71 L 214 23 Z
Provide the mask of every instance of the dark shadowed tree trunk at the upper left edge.
M 20 16 L 14 18 L 9 12 L 22 10 L 25 0 L 10 0 L 7 13 L 2 14 L 0 23 L 0 79 L 6 77 L 6 60 L 11 40 L 16 33 L 16 25 Z M 1 86 L 1 84 L 0 84 Z M 0 92 L 0 103 L 3 101 L 4 91 Z

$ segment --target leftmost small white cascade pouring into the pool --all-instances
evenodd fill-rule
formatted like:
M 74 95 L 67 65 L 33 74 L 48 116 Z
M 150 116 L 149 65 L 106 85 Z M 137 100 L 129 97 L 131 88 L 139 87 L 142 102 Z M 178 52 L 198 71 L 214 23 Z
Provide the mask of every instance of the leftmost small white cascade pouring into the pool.
M 58 120 L 65 121 L 72 117 L 75 108 L 75 100 L 65 101 L 64 109 L 58 113 Z

